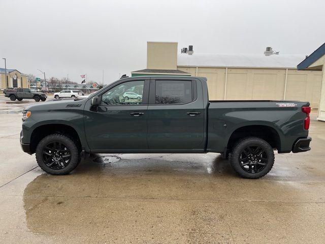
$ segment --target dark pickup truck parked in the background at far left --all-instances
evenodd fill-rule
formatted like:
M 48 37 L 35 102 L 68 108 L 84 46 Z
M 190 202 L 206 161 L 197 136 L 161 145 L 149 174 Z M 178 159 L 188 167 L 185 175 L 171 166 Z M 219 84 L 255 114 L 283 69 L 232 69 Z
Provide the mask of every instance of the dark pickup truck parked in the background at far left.
M 10 98 L 11 101 L 21 101 L 23 99 L 34 99 L 36 102 L 45 101 L 47 96 L 45 93 L 35 93 L 31 92 L 28 88 L 13 88 L 13 89 L 6 89 L 4 91 L 5 97 Z

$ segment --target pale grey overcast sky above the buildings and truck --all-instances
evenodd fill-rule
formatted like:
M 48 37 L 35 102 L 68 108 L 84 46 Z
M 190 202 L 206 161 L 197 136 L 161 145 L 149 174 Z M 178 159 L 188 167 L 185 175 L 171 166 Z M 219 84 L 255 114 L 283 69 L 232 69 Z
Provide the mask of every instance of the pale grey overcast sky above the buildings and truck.
M 9 69 L 76 82 L 102 82 L 104 70 L 108 84 L 146 68 L 147 41 L 194 54 L 310 54 L 325 42 L 324 13 L 324 0 L 0 0 L 0 57 Z

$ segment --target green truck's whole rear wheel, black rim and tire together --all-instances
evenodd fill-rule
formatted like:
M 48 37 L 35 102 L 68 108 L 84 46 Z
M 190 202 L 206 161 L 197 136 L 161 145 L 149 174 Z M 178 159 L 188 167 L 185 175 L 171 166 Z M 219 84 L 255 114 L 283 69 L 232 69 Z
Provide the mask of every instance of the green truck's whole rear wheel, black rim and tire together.
M 243 178 L 261 178 L 270 172 L 273 164 L 273 149 L 261 138 L 247 137 L 239 140 L 234 146 L 231 165 Z

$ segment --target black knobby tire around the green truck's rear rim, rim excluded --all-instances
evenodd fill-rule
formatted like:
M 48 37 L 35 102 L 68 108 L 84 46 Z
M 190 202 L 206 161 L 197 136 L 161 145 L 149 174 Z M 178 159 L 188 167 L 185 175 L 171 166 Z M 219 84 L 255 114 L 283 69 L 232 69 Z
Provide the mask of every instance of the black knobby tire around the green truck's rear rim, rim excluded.
M 240 163 L 240 155 L 244 148 L 250 145 L 257 145 L 259 147 L 262 147 L 267 154 L 267 164 L 264 169 L 262 169 L 259 172 L 256 173 L 250 173 L 242 169 L 241 163 Z M 266 142 L 265 140 L 257 137 L 246 137 L 243 139 L 240 139 L 235 146 L 233 147 L 233 151 L 230 154 L 230 162 L 233 167 L 233 169 L 243 178 L 248 179 L 257 179 L 265 176 L 267 173 L 270 172 L 270 170 L 273 167 L 274 164 L 274 151 L 270 144 Z

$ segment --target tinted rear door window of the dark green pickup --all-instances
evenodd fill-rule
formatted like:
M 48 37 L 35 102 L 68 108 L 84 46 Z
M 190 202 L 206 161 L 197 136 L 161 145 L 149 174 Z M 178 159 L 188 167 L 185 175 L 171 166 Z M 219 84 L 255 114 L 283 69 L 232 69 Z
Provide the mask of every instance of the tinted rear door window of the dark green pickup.
M 155 104 L 182 104 L 192 101 L 189 80 L 156 80 Z

